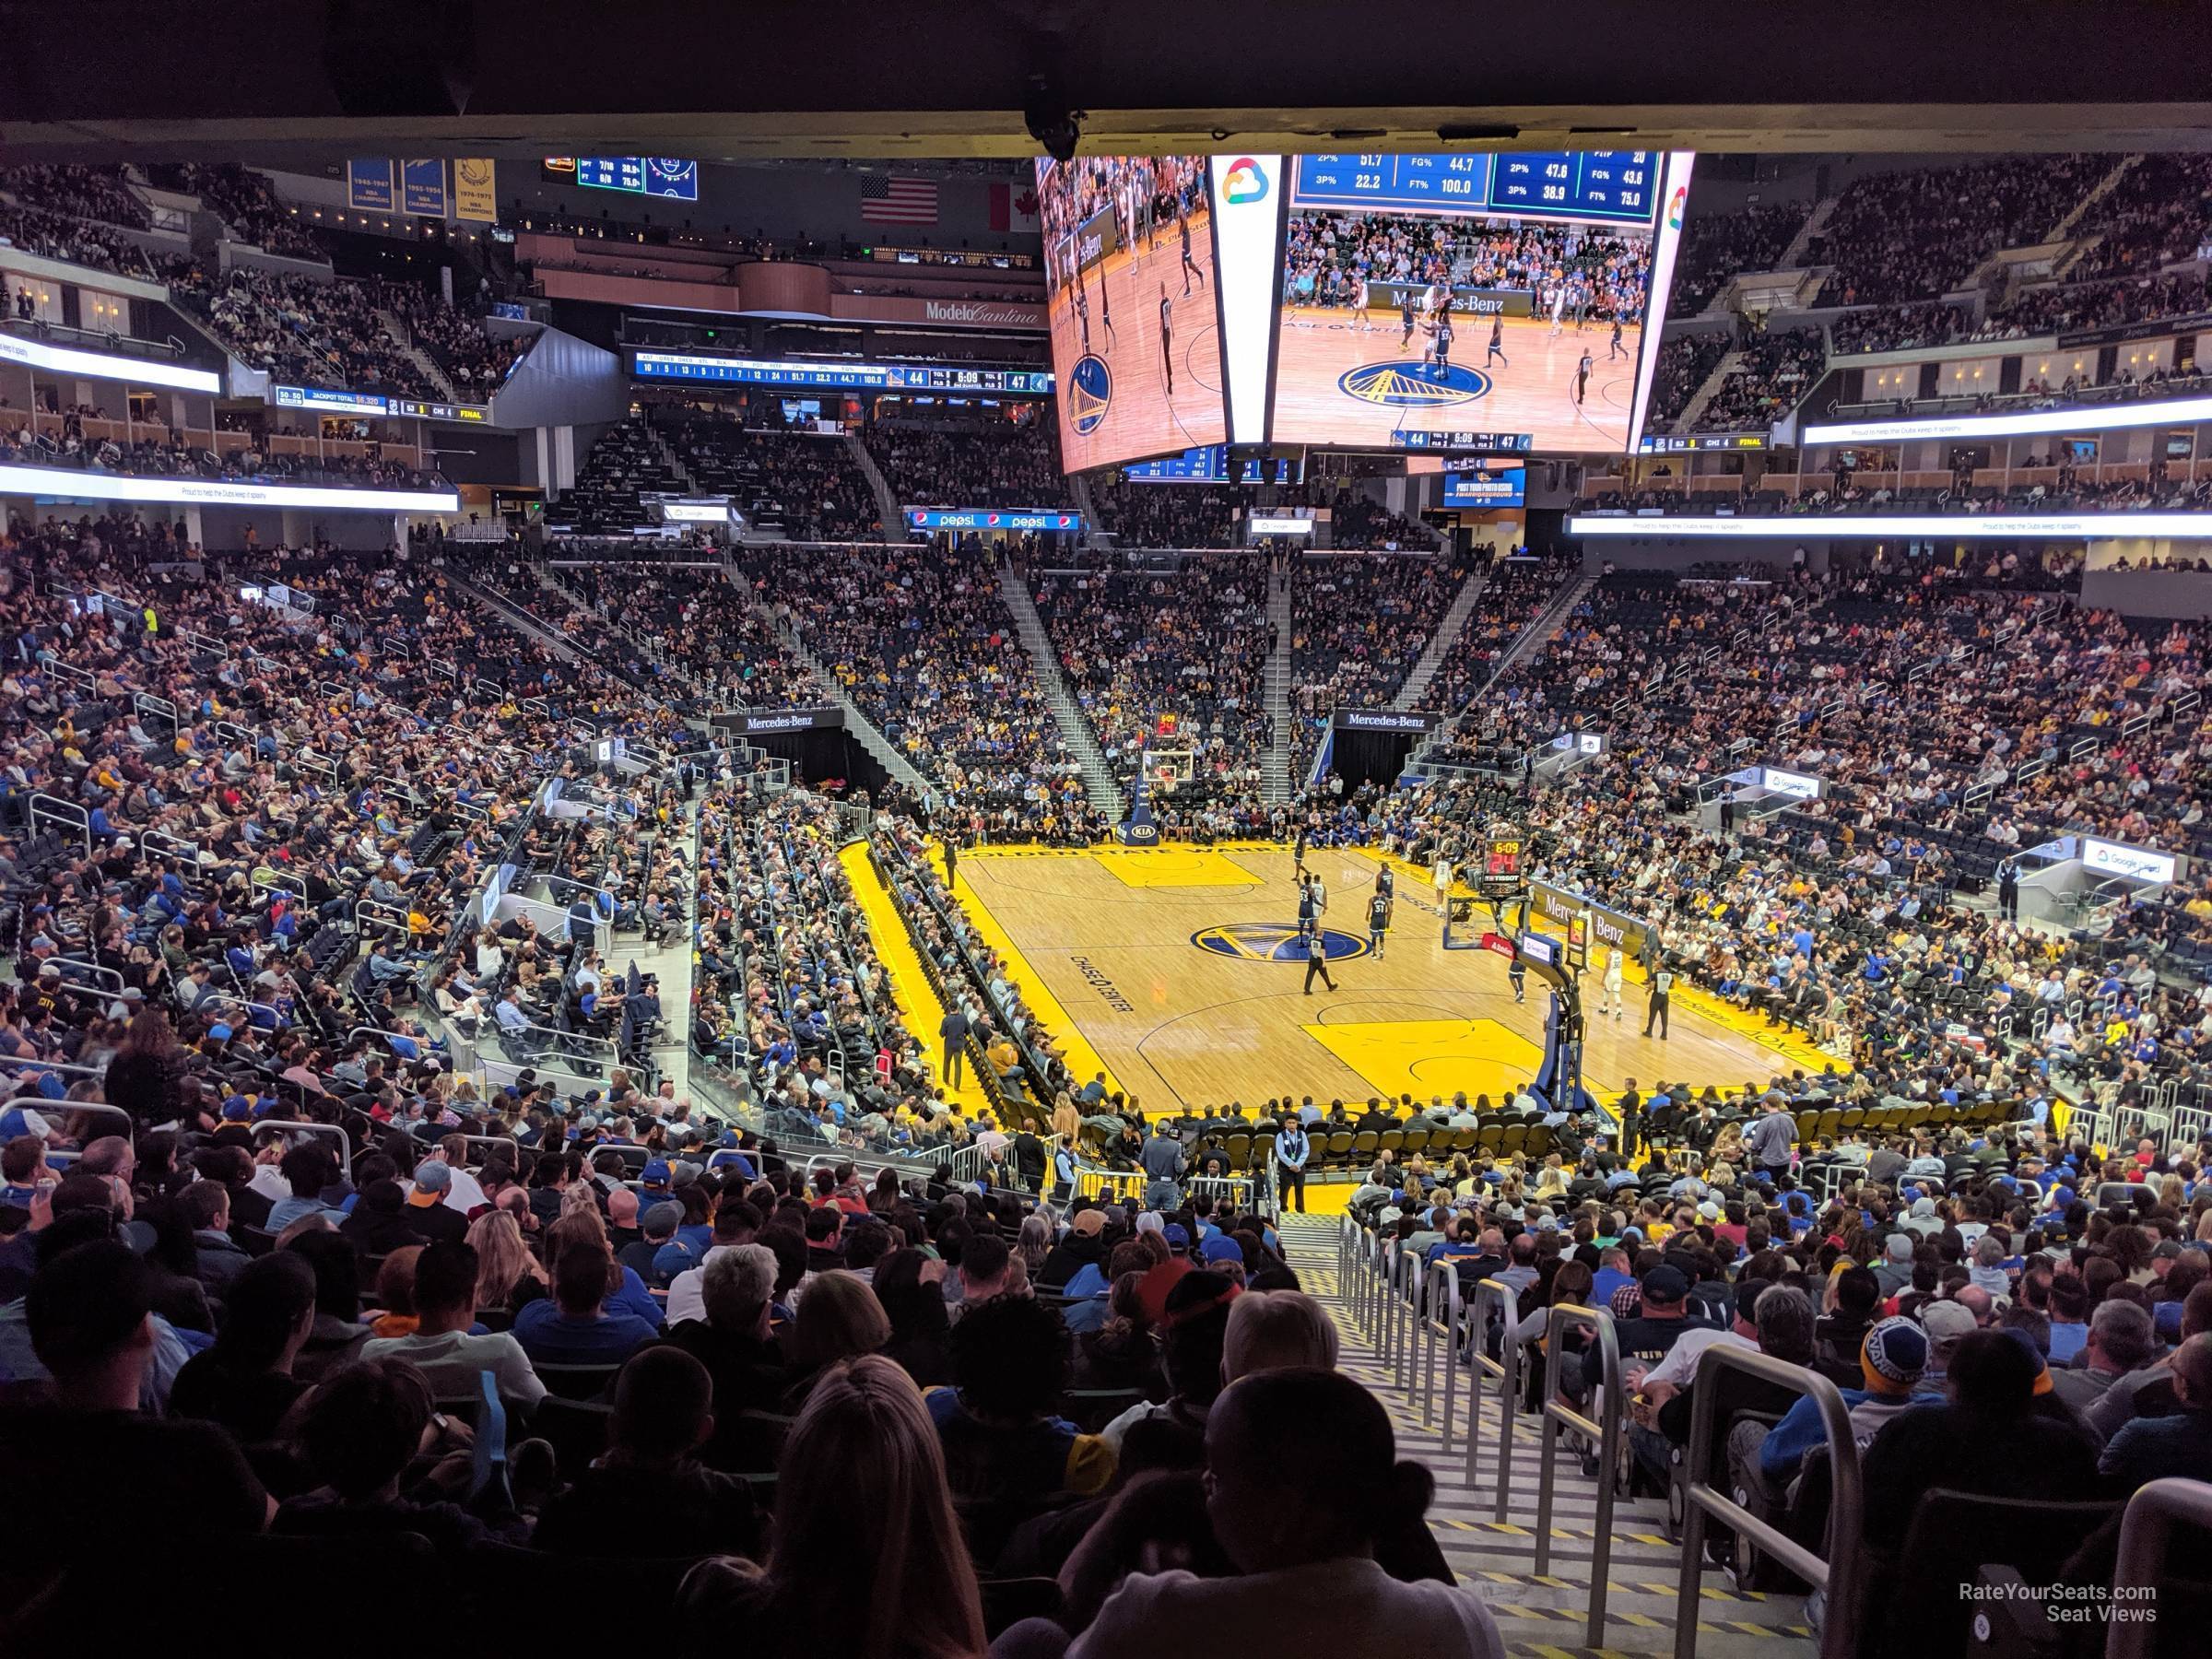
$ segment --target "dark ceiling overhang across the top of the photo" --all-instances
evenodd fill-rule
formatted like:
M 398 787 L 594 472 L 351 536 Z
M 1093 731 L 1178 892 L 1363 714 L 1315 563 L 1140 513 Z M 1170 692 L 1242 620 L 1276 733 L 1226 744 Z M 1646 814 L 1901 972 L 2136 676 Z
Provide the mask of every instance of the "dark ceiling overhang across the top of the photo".
M 0 0 L 0 155 L 2212 148 L 2172 0 Z M 1033 77 L 1044 77 L 1042 91 Z

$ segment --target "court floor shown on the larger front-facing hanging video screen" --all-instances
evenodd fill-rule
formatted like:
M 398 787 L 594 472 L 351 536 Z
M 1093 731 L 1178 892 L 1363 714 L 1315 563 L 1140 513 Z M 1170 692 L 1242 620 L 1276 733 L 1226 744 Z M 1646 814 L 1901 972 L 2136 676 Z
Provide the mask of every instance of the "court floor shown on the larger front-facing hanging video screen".
M 1568 321 L 1559 336 L 1551 319 L 1506 319 L 1502 349 L 1509 363 L 1484 367 L 1491 343 L 1489 319 L 1453 321 L 1451 367 L 1458 392 L 1431 389 L 1418 374 L 1427 336 L 1416 327 L 1398 345 L 1405 327 L 1398 312 L 1374 312 L 1363 330 L 1354 312 L 1301 307 L 1283 312 L 1274 372 L 1274 436 L 1298 442 L 1387 440 L 1398 427 L 1444 431 L 1528 431 L 1544 449 L 1626 449 L 1628 407 L 1635 396 L 1635 352 L 1641 330 L 1621 332 L 1621 352 L 1610 358 L 1613 325 L 1590 323 L 1582 334 Z M 1590 385 L 1575 405 L 1575 365 L 1590 354 Z M 1369 396 L 1354 396 L 1338 380 L 1367 365 L 1409 365 L 1402 376 L 1376 369 L 1383 380 Z M 1473 369 L 1478 378 L 1458 374 Z M 1489 387 L 1475 392 L 1486 380 Z

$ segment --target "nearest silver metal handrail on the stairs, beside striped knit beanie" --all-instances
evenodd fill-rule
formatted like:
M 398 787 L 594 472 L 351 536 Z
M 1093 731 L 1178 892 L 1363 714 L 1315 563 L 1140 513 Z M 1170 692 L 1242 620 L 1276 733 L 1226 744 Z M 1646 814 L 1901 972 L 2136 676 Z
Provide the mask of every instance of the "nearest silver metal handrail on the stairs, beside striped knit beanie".
M 1820 1407 L 1820 1429 L 1827 1436 L 1832 1498 L 1827 1506 L 1827 1559 L 1814 1555 L 1772 1522 L 1759 1520 L 1728 1493 L 1705 1484 L 1712 1467 L 1714 1400 L 1721 1371 L 1743 1371 L 1761 1383 L 1774 1383 L 1792 1394 L 1809 1394 Z M 1858 1484 L 1858 1442 L 1851 1438 L 1851 1413 L 1843 1394 L 1818 1371 L 1790 1365 L 1772 1354 L 1714 1343 L 1697 1356 L 1697 1378 L 1690 1385 L 1690 1480 L 1683 1486 L 1681 1584 L 1677 1610 L 1694 1613 L 1699 1579 L 1705 1571 L 1705 1517 L 1728 1522 L 1736 1533 L 1787 1566 L 1818 1590 L 1827 1590 L 1827 1617 L 1820 1621 L 1820 1659 L 1851 1659 L 1858 1652 L 1858 1571 L 1863 1498 Z M 1697 1619 L 1674 1621 L 1674 1659 L 1697 1659 Z

